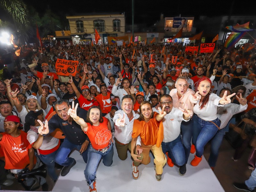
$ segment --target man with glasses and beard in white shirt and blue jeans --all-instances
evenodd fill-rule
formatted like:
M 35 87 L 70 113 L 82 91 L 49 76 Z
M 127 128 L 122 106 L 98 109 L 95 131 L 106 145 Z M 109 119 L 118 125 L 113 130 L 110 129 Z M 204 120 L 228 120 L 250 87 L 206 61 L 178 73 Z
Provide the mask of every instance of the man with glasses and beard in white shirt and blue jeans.
M 172 97 L 170 95 L 162 95 L 159 101 L 161 108 L 164 108 L 166 115 L 163 118 L 164 140 L 162 142 L 162 150 L 172 159 L 173 163 L 180 166 L 179 173 L 186 173 L 185 150 L 181 141 L 180 124 L 182 121 L 188 122 L 193 112 L 188 108 L 175 108 L 172 106 Z

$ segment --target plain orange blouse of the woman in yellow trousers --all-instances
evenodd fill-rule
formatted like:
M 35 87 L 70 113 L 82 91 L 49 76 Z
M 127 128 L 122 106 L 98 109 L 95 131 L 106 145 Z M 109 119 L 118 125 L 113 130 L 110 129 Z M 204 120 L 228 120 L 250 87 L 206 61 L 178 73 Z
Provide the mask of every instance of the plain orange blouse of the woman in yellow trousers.
M 155 145 L 160 147 L 164 139 L 164 126 L 162 121 L 157 121 L 158 113 L 154 112 L 154 117 L 149 122 L 134 120 L 132 138 L 140 135 L 141 141 L 144 145 Z

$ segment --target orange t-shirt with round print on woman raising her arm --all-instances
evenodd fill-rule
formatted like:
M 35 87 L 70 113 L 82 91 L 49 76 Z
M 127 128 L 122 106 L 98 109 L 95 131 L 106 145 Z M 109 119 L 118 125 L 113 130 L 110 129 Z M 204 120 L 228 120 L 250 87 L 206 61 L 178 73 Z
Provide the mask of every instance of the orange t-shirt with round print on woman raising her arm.
M 88 129 L 87 132 L 84 132 L 89 137 L 94 149 L 108 147 L 109 141 L 112 138 L 112 133 L 108 130 L 108 119 L 106 117 L 102 118 L 103 122 L 99 126 L 93 126 L 87 123 Z

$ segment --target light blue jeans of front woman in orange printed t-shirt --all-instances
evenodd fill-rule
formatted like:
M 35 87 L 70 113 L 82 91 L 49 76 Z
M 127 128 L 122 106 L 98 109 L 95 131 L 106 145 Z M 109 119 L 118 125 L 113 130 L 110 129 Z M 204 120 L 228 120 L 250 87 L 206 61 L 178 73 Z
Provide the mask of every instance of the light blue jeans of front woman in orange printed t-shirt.
M 113 163 L 114 149 L 113 143 L 111 143 L 110 147 L 105 153 L 92 148 L 92 144 L 90 144 L 88 148 L 88 162 L 84 170 L 84 175 L 88 185 L 93 189 L 93 182 L 96 179 L 95 175 L 97 167 L 100 163 L 100 159 L 102 158 L 103 164 L 109 167 Z

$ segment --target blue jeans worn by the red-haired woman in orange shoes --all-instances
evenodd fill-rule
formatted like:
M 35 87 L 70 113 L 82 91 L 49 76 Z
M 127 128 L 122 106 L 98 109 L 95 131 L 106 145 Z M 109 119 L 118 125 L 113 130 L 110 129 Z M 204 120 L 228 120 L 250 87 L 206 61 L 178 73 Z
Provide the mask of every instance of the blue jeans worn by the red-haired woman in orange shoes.
M 220 120 L 218 118 L 212 120 L 212 122 L 220 127 Z M 194 119 L 193 140 L 196 140 L 195 144 L 197 157 L 201 157 L 203 155 L 204 146 L 219 130 L 217 126 L 212 122 L 205 121 L 198 116 Z

